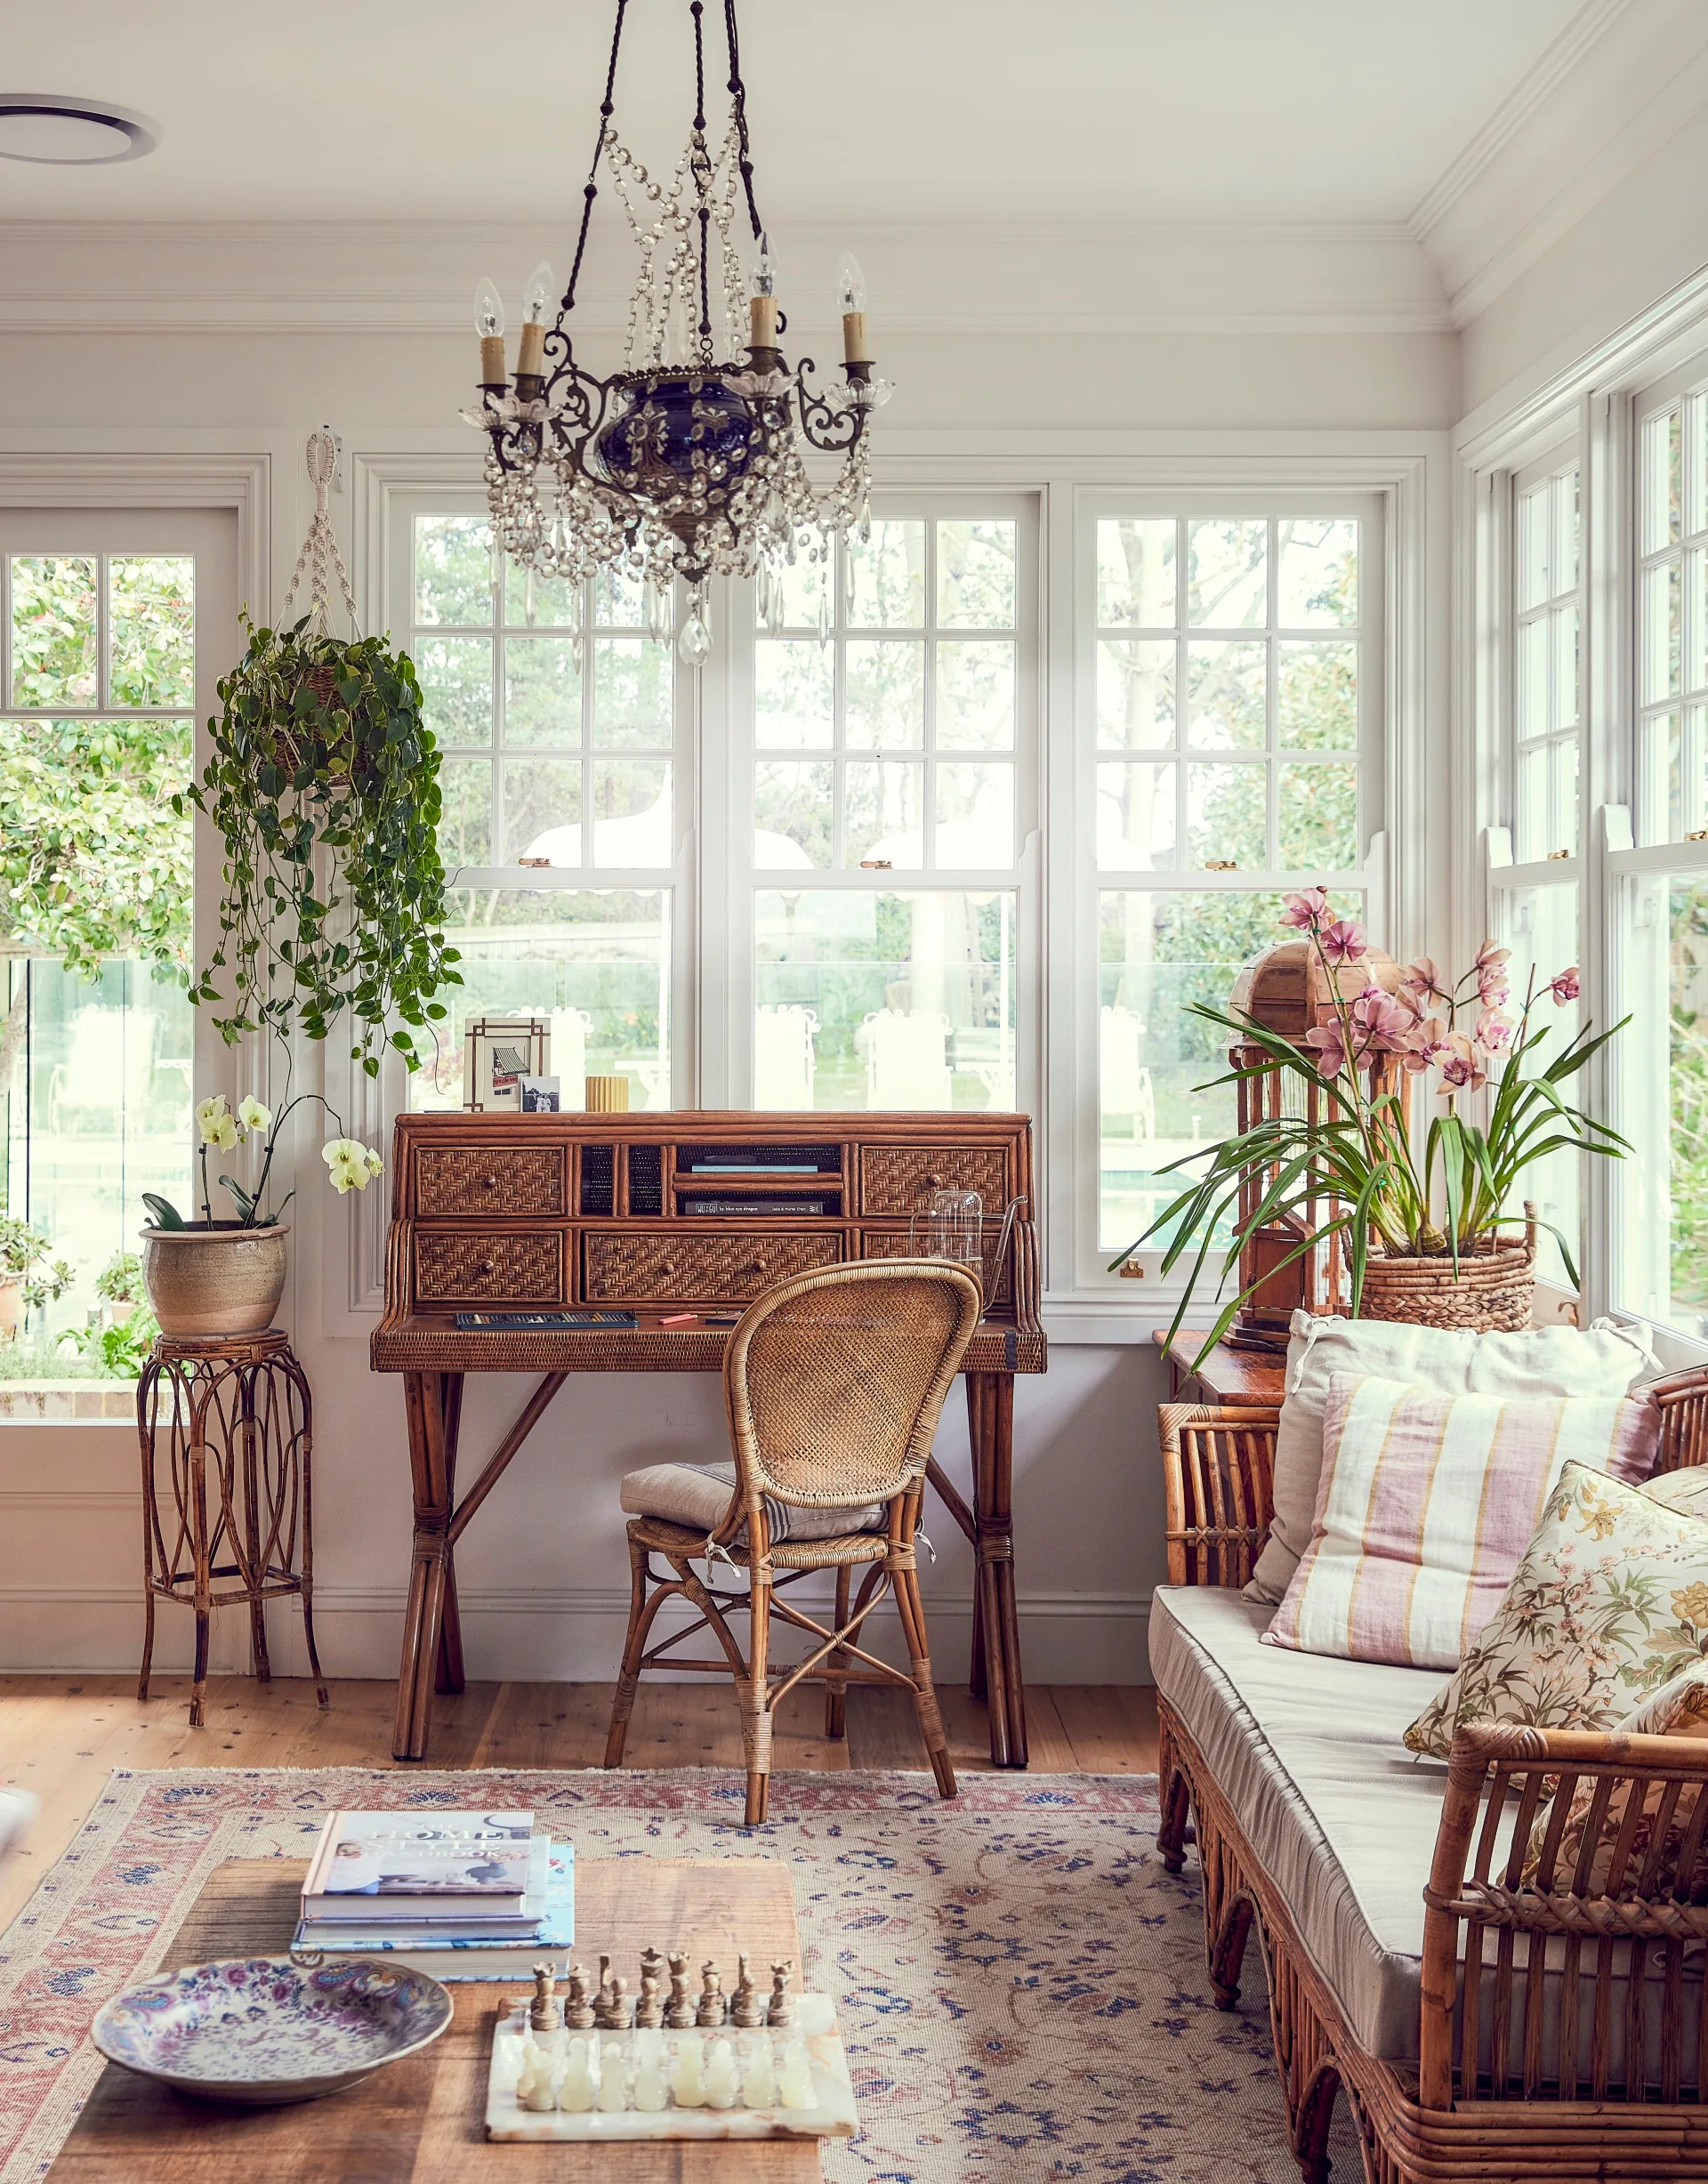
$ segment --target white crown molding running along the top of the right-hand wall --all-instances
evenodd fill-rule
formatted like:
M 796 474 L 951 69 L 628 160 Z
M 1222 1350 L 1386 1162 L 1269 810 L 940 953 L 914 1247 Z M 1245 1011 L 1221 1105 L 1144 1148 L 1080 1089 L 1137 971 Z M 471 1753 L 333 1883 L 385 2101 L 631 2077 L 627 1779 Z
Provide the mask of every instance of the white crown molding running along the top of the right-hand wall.
M 1708 105 L 1701 0 L 1588 0 L 1420 201 L 1466 328 Z

